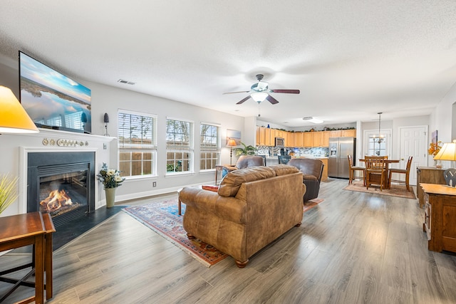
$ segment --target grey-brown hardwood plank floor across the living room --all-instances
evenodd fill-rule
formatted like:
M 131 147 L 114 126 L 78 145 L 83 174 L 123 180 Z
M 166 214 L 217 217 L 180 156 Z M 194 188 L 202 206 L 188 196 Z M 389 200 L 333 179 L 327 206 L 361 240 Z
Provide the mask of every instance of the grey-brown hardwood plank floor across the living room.
M 347 183 L 322 183 L 325 201 L 244 269 L 231 257 L 206 268 L 120 212 L 54 252 L 48 303 L 456 303 L 456 256 L 427 250 L 418 201 Z M 9 300 L 32 293 L 20 289 Z

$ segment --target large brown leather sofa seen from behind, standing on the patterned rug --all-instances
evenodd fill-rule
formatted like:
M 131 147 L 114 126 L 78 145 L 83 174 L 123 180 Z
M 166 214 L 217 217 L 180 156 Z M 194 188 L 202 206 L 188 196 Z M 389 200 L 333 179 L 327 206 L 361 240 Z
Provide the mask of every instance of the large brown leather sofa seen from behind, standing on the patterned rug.
M 260 157 L 261 158 L 261 157 Z M 183 226 L 244 268 L 254 253 L 300 226 L 306 187 L 298 169 L 278 164 L 229 172 L 218 192 L 185 187 Z

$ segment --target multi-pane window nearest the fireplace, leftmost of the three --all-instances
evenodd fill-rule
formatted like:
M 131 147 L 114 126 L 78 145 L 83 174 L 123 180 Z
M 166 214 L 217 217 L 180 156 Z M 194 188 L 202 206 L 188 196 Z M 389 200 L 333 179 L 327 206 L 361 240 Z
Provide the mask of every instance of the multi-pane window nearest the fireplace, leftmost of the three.
M 123 177 L 156 175 L 156 124 L 155 116 L 119 110 L 119 169 Z

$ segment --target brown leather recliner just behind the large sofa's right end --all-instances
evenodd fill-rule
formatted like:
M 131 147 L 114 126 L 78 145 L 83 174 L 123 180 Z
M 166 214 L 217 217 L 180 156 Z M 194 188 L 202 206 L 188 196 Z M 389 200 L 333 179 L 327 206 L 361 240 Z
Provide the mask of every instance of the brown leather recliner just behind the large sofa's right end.
M 306 194 L 304 194 L 304 201 L 318 197 L 324 166 L 321 159 L 292 158 L 288 162 L 288 165 L 298 168 L 303 173 L 303 183 L 307 187 Z

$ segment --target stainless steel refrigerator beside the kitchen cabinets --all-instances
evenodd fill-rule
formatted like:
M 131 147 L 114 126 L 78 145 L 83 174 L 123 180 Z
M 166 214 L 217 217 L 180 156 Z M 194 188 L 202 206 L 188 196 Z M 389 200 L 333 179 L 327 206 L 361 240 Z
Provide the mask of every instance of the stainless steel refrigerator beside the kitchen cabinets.
M 330 137 L 328 151 L 328 177 L 347 178 L 350 167 L 348 166 L 348 154 L 355 159 L 355 137 Z M 353 165 L 353 164 L 352 164 Z

